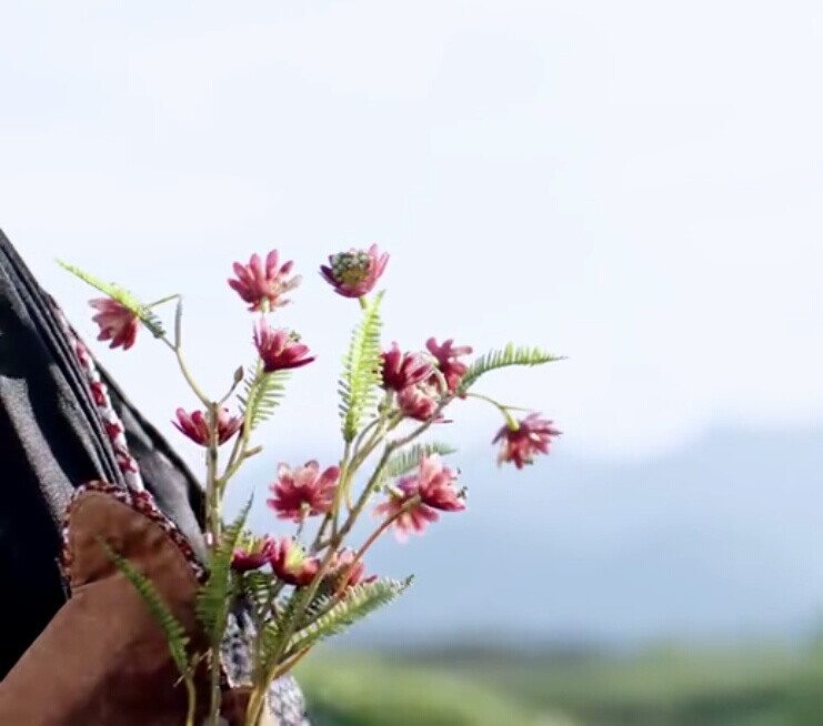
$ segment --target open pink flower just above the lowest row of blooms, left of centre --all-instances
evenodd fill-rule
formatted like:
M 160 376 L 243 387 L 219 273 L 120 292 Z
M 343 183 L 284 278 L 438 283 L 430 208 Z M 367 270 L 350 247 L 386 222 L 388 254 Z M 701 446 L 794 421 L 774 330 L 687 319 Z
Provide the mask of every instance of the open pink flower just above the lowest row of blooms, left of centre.
M 278 467 L 278 481 L 269 488 L 274 495 L 267 504 L 281 520 L 301 522 L 307 516 L 325 514 L 334 502 L 340 470 L 330 466 L 322 474 L 315 461 L 294 470 Z

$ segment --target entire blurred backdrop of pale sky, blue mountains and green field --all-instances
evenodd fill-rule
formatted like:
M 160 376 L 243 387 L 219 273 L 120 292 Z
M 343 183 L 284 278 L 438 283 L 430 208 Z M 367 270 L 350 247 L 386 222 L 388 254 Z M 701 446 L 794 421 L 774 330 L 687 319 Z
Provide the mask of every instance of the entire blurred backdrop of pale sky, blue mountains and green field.
M 251 352 L 231 263 L 304 275 L 280 314 L 318 362 L 235 503 L 340 455 L 332 252 L 391 253 L 387 341 L 569 356 L 483 389 L 564 432 L 525 472 L 455 410 L 469 512 L 375 551 L 416 582 L 301 667 L 315 724 L 823 723 L 822 26 L 813 0 L 2 3 L 0 226 L 87 337 L 56 258 L 184 293 L 222 390 Z M 199 465 L 164 349 L 94 350 Z

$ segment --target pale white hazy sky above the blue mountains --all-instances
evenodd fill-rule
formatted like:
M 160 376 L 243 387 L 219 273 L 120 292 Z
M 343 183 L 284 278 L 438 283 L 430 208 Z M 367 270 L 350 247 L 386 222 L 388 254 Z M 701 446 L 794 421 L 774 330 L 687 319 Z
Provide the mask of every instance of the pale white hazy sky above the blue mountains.
M 820 421 L 821 20 L 812 1 L 4 2 L 0 226 L 87 334 L 56 256 L 187 293 L 215 392 L 250 357 L 227 353 L 249 337 L 230 263 L 294 259 L 282 319 L 319 355 L 280 428 L 301 448 L 329 446 L 357 314 L 317 266 L 371 242 L 392 254 L 388 340 L 570 356 L 488 386 L 569 451 Z M 192 403 L 148 337 L 102 360 L 161 422 Z

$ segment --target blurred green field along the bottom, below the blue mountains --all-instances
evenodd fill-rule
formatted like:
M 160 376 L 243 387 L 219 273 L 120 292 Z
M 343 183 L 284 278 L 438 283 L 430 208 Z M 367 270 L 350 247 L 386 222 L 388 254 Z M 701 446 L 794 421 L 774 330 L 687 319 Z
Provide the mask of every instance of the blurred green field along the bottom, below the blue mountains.
M 784 648 L 635 656 L 318 654 L 317 726 L 823 726 L 823 661 Z

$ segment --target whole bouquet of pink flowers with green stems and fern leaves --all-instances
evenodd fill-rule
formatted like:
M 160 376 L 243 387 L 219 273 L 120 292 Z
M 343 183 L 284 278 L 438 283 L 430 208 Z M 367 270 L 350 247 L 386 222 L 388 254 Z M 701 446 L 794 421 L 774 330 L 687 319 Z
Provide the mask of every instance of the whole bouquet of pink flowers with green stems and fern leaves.
M 531 464 L 536 454 L 549 453 L 551 440 L 560 433 L 538 413 L 516 420 L 512 412 L 519 410 L 475 391 L 492 371 L 533 366 L 559 356 L 509 344 L 466 362 L 471 347 L 434 339 L 420 352 L 407 352 L 397 343 L 383 347 L 383 292 L 372 293 L 388 259 L 372 246 L 333 254 L 329 264 L 320 268 L 331 289 L 343 299 L 357 300 L 361 309 L 338 386 L 342 454 L 327 467 L 317 461 L 278 466 L 267 502 L 283 523 L 278 536 L 247 530 L 249 505 L 227 523 L 223 497 L 231 480 L 261 452 L 259 430 L 274 414 L 288 379 L 314 360 L 294 331 L 272 325 L 278 309 L 289 302 L 287 295 L 300 283 L 293 263 L 282 263 L 272 251 L 265 259 L 254 254 L 248 264 L 234 264 L 229 285 L 253 316 L 254 363 L 245 371 L 237 369 L 228 391 L 218 396 L 200 387 L 187 363 L 180 295 L 144 304 L 126 289 L 64 264 L 106 295 L 91 301 L 99 340 L 129 350 L 144 326 L 171 351 L 200 403 L 195 411 L 179 409 L 174 425 L 204 450 L 209 554 L 197 609 L 209 643 L 207 653 L 190 652 L 182 628 L 151 583 L 128 563 L 119 563 L 147 598 L 169 639 L 189 693 L 187 726 L 194 723 L 199 697 L 195 672 L 203 667 L 209 673 L 207 724 L 219 723 L 220 647 L 237 603 L 249 606 L 254 623 L 252 683 L 243 718 L 247 726 L 257 726 L 273 679 L 289 672 L 319 642 L 341 633 L 409 586 L 411 578 L 368 576 L 365 556 L 392 528 L 402 540 L 409 533 L 422 533 L 442 512 L 465 508 L 465 490 L 458 485 L 456 471 L 443 461 L 453 450 L 421 441 L 430 430 L 443 430 L 450 423 L 445 412 L 452 404 L 479 399 L 493 405 L 503 417 L 493 440 L 500 445 L 499 463 L 511 462 L 518 468 Z M 174 302 L 177 314 L 172 332 L 167 333 L 155 311 Z M 367 516 L 375 522 L 371 535 L 352 543 L 354 525 Z

